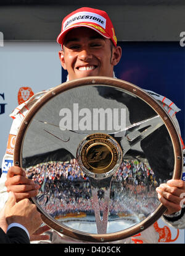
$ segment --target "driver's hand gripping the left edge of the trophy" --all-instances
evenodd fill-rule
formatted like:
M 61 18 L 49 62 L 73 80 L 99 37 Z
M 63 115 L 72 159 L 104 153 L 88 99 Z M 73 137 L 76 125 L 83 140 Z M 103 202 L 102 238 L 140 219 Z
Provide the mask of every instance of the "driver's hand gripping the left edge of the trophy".
M 7 192 L 14 192 L 17 201 L 36 196 L 39 189 L 39 185 L 25 177 L 24 170 L 17 166 L 9 168 L 5 185 Z

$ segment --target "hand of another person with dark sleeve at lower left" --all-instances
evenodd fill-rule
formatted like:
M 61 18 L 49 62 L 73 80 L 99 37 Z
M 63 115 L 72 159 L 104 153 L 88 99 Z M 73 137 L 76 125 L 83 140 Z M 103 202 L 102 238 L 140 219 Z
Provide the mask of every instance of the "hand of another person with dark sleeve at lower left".
M 9 193 L 9 199 L 4 208 L 4 216 L 7 224 L 19 223 L 33 234 L 42 223 L 41 214 L 36 210 L 36 205 L 30 200 L 24 199 L 16 203 L 14 193 Z

